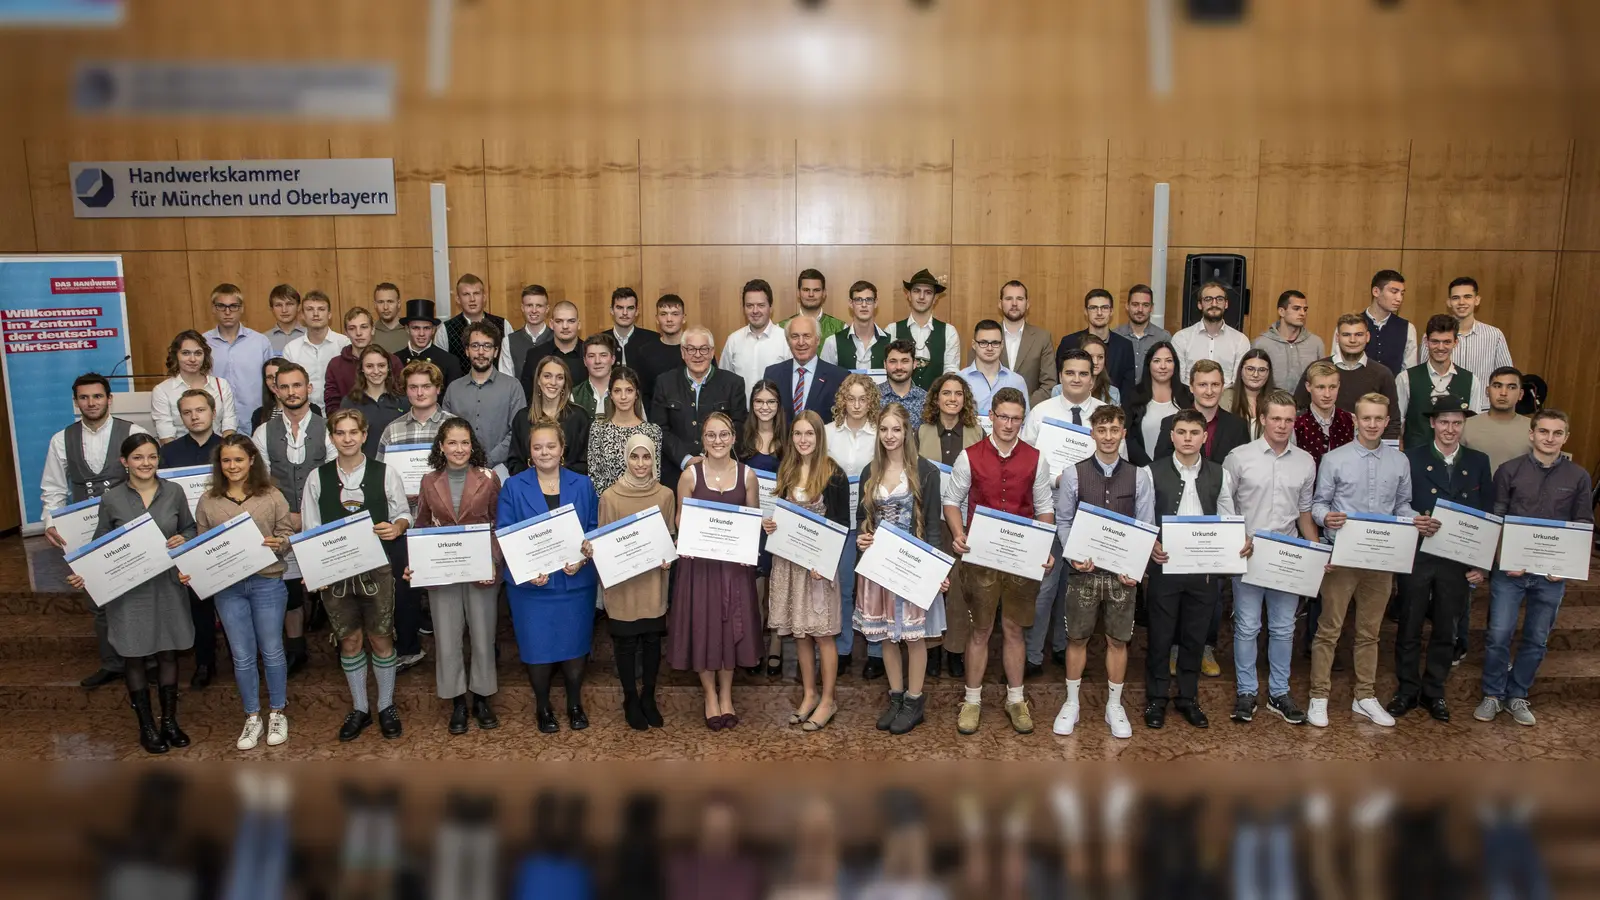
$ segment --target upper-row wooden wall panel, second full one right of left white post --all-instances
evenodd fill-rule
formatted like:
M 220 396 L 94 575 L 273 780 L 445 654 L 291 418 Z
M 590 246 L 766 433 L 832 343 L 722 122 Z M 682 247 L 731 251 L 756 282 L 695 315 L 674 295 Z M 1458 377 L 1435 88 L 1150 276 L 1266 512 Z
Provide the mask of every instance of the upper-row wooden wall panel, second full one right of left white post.
M 794 139 L 646 139 L 643 243 L 794 243 Z

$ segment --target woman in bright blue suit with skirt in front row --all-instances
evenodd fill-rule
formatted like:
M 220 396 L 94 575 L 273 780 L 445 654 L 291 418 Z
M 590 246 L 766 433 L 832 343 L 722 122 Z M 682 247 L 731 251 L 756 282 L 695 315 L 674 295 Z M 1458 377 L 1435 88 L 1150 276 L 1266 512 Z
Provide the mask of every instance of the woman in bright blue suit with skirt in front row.
M 562 426 L 541 418 L 528 434 L 533 468 L 512 476 L 499 496 L 494 525 L 502 528 L 534 516 L 542 516 L 571 503 L 584 532 L 595 528 L 600 501 L 589 476 L 562 468 L 566 452 Z M 560 730 L 550 709 L 550 677 L 562 668 L 566 685 L 566 721 L 573 730 L 589 727 L 579 690 L 584 684 L 584 658 L 594 642 L 595 570 L 578 557 L 565 569 L 515 585 L 506 573 L 510 618 L 517 629 L 517 649 L 528 665 L 528 681 L 538 706 L 539 730 Z

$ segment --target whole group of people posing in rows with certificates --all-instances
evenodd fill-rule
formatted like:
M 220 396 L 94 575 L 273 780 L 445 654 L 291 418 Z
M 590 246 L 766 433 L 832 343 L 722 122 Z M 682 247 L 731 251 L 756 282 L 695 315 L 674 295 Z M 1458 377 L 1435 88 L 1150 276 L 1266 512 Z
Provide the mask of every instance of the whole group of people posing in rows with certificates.
M 80 421 L 53 437 L 42 484 L 46 535 L 66 546 L 48 511 L 94 496 L 96 533 L 149 512 L 173 548 L 248 512 L 278 560 L 206 601 L 170 570 L 94 607 L 101 669 L 85 685 L 125 681 L 142 746 L 186 746 L 178 652 L 195 649 L 190 684 L 205 687 L 221 620 L 246 716 L 238 748 L 283 743 L 286 679 L 306 665 L 306 618 L 315 605 L 326 613 L 349 682 L 341 741 L 358 738 L 374 719 L 386 738 L 400 737 L 395 676 L 424 658 L 419 634 L 429 631 L 437 693 L 451 701 L 448 730 L 466 733 L 472 722 L 494 729 L 494 634 L 506 604 L 539 730 L 560 730 L 557 671 L 568 727 L 586 729 L 581 687 L 602 609 L 634 729 L 662 725 L 662 653 L 672 668 L 698 673 L 707 729 L 738 727 L 736 669 L 758 674 L 765 665 L 779 674 L 786 637 L 794 639 L 802 684 L 790 724 L 826 729 L 859 634 L 867 644 L 862 676 L 888 682 L 880 730 L 901 735 L 922 724 L 926 679 L 949 671 L 966 685 L 957 729 L 974 733 L 998 620 L 1003 708 L 1014 730 L 1034 730 L 1024 681 L 1043 671 L 1046 642 L 1067 689 L 1053 730 L 1077 729 L 1088 644 L 1099 628 L 1104 721 L 1128 738 L 1122 689 L 1141 605 L 1146 725 L 1163 727 L 1173 708 L 1206 727 L 1197 685 L 1202 673 L 1219 674 L 1222 585 L 1163 572 L 1170 559 L 1160 543 L 1142 580 L 1067 559 L 1062 548 L 1082 503 L 1150 525 L 1171 516 L 1242 516 L 1246 533 L 1309 541 L 1328 541 L 1349 516 L 1374 512 L 1414 517 L 1429 535 L 1443 498 L 1494 514 L 1592 522 L 1589 476 L 1562 455 L 1566 416 L 1515 412 L 1522 373 L 1504 335 L 1475 319 L 1472 279 L 1451 283 L 1451 314 L 1430 317 L 1419 343 L 1400 319 L 1403 277 L 1378 272 L 1368 309 L 1339 319 L 1331 356 L 1306 328 L 1309 304 L 1299 291 L 1280 296 L 1277 322 L 1251 343 L 1226 323 L 1230 296 L 1221 283 L 1200 288 L 1200 320 L 1176 335 L 1152 323 L 1154 296 L 1144 285 L 1126 295 L 1126 322 L 1109 328 L 1112 295 L 1096 288 L 1085 298 L 1088 327 L 1058 343 L 1027 320 L 1027 288 L 1013 280 L 1000 290 L 997 317 L 973 327 L 968 356 L 957 328 L 934 315 L 946 287 L 926 269 L 902 287 L 910 312 L 883 328 L 869 282 L 850 287 L 850 320 L 842 320 L 822 312 L 826 280 L 806 269 L 797 279 L 798 312 L 774 322 L 771 285 L 750 280 L 741 291 L 746 325 L 718 356 L 707 328 L 686 327 L 677 295 L 656 301 L 659 331 L 643 328 L 632 288 L 613 291 L 613 327 L 581 338 L 578 307 L 552 306 L 539 285 L 522 291 L 523 325 L 509 331 L 486 312 L 474 275 L 458 280 L 461 312 L 445 322 L 427 299 L 405 303 L 402 315 L 400 291 L 381 283 L 371 309 L 344 314 L 344 335 L 331 331 L 331 304 L 320 291 L 272 288 L 275 327 L 258 333 L 240 323 L 240 288 L 218 285 L 216 328 L 182 331 L 171 343 L 170 378 L 152 392 L 155 434 L 112 415 L 106 378 L 74 383 Z M 1056 468 L 1037 448 L 1045 420 L 1086 429 L 1093 453 Z M 392 447 L 418 444 L 430 445 L 430 472 L 410 493 L 384 458 Z M 178 466 L 211 468 L 194 509 L 160 477 Z M 690 498 L 746 508 L 786 500 L 848 528 L 845 552 L 834 572 L 765 551 L 755 565 L 682 557 L 600 589 L 586 543 L 582 559 L 522 583 L 496 551 L 493 578 L 410 586 L 410 528 L 504 527 L 573 506 L 586 532 L 651 509 L 675 532 Z M 882 525 L 957 559 L 970 552 L 976 508 L 1051 525 L 1058 538 L 1042 570 L 1019 575 L 957 560 L 926 609 L 858 577 L 858 554 Z M 322 586 L 318 602 L 307 604 L 290 536 L 363 511 L 389 565 Z M 771 519 L 763 525 L 774 528 Z M 1251 552 L 1246 541 L 1242 556 Z M 1424 706 L 1448 721 L 1445 679 L 1464 655 L 1472 588 L 1488 581 L 1475 716 L 1509 711 L 1531 725 L 1528 692 L 1563 586 L 1485 562 L 1418 554 L 1413 573 L 1400 577 L 1398 684 L 1387 703 L 1374 681 L 1392 575 L 1330 567 L 1320 597 L 1306 599 L 1232 578 L 1232 719 L 1248 722 L 1259 709 L 1266 621 L 1267 709 L 1291 724 L 1328 725 L 1334 647 L 1354 601 L 1352 711 L 1394 725 Z M 1288 685 L 1302 602 L 1314 625 L 1306 711 Z

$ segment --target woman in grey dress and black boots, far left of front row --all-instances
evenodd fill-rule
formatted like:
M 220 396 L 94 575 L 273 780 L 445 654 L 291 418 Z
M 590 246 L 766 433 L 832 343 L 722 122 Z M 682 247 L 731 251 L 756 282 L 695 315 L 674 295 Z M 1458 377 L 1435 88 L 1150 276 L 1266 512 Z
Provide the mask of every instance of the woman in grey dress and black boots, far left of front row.
M 128 480 L 107 488 L 101 496 L 94 536 L 114 532 L 146 512 L 166 535 L 168 548 L 195 536 L 195 520 L 184 488 L 155 477 L 160 466 L 160 444 L 155 437 L 133 434 L 123 440 L 122 464 L 128 468 Z M 83 586 L 77 575 L 67 581 L 74 588 Z M 189 615 L 189 589 L 178 583 L 178 570 L 168 569 L 110 601 L 106 605 L 106 626 L 110 645 L 128 661 L 123 677 L 128 682 L 128 701 L 139 717 L 139 743 L 147 753 L 189 746 L 189 735 L 178 727 L 178 650 L 194 645 L 195 629 Z M 155 657 L 157 663 L 160 729 L 150 714 L 146 657 Z

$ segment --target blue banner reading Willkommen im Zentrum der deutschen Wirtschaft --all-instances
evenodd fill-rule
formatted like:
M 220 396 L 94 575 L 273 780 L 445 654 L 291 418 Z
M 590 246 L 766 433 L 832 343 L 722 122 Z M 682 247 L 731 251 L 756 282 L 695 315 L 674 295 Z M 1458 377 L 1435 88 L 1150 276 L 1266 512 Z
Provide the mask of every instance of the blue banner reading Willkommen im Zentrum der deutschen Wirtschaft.
M 38 482 L 50 437 L 77 421 L 72 381 L 85 372 L 128 372 L 122 256 L 0 256 L 0 333 L 16 490 L 27 527 L 43 520 Z M 125 392 L 128 381 L 112 380 L 110 389 Z

